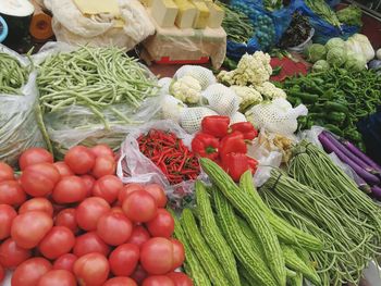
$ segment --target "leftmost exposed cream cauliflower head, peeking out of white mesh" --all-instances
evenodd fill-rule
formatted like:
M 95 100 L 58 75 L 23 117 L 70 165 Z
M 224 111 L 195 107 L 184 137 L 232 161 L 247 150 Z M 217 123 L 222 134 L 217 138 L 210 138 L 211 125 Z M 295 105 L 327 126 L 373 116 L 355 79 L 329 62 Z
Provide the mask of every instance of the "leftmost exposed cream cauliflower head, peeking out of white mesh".
M 201 85 L 200 83 L 189 76 L 183 76 L 182 78 L 173 82 L 170 86 L 170 92 L 172 96 L 185 103 L 197 103 L 201 99 Z

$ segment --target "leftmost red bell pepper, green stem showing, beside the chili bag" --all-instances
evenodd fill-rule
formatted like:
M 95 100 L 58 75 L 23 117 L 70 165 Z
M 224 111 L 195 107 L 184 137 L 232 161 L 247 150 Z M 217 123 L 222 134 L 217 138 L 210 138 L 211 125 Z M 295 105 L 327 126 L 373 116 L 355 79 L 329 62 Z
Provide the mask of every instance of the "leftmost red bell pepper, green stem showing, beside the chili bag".
M 220 140 L 209 134 L 198 133 L 192 140 L 192 150 L 199 157 L 216 160 Z

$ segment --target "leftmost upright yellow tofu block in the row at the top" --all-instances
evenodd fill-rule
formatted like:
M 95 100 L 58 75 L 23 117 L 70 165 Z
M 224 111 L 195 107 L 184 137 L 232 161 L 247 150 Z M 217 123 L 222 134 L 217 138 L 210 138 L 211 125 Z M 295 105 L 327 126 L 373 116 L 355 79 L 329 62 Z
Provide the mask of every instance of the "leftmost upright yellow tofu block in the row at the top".
M 172 0 L 153 0 L 151 15 L 156 23 L 163 28 L 174 26 L 179 8 Z

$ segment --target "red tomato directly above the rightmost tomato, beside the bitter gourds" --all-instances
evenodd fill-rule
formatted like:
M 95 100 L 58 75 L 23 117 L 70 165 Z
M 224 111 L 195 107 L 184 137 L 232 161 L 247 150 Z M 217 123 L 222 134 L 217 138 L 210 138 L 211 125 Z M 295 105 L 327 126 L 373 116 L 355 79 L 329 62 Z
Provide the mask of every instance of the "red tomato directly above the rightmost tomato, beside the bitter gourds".
M 147 229 L 155 237 L 171 237 L 174 231 L 174 220 L 165 209 L 159 209 L 153 220 L 147 224 Z

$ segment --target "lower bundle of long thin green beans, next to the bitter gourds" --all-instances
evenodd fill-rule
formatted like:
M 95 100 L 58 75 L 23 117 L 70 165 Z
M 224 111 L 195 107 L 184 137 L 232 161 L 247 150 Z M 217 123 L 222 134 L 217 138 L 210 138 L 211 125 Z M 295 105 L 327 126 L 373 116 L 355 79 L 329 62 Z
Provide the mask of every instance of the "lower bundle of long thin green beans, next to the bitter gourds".
M 364 269 L 380 252 L 379 229 L 370 219 L 352 216 L 332 199 L 334 195 L 325 196 L 280 170 L 272 171 L 260 195 L 278 215 L 325 241 L 323 251 L 310 253 L 323 286 L 358 285 Z

